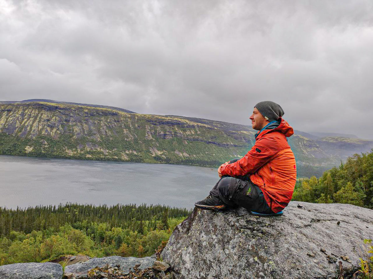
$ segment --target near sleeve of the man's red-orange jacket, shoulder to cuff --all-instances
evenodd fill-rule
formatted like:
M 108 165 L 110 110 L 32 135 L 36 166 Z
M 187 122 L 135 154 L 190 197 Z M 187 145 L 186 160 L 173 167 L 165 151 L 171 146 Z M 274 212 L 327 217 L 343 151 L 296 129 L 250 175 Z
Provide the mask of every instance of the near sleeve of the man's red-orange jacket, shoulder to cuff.
M 280 151 L 275 138 L 263 137 L 240 160 L 227 164 L 221 170 L 222 175 L 244 176 L 256 172 Z

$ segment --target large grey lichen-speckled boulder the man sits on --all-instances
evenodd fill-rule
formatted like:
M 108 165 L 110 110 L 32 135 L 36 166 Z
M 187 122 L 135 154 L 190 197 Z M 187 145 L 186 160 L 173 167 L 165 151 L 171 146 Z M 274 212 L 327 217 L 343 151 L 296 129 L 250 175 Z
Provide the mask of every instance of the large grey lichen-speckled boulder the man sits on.
M 195 208 L 162 251 L 176 278 L 344 278 L 359 269 L 373 210 L 347 204 L 291 202 L 282 216 L 256 217 L 244 208 Z

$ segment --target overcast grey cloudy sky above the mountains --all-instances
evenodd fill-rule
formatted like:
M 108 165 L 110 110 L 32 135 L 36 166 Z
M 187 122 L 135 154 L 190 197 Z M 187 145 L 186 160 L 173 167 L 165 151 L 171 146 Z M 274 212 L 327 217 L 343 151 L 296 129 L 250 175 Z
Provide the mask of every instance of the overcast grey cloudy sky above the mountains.
M 373 139 L 373 1 L 0 0 L 0 100 Z

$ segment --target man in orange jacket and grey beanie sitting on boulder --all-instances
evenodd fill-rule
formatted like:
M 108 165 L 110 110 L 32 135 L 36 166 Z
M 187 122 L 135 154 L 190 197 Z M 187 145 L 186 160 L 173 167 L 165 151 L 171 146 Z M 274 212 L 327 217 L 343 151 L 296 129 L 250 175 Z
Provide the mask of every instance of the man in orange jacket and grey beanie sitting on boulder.
M 250 116 L 258 130 L 255 144 L 241 159 L 222 164 L 220 180 L 210 195 L 195 203 L 203 209 L 242 206 L 258 215 L 282 214 L 294 192 L 297 169 L 287 137 L 293 128 L 282 119 L 282 108 L 271 101 L 257 103 Z

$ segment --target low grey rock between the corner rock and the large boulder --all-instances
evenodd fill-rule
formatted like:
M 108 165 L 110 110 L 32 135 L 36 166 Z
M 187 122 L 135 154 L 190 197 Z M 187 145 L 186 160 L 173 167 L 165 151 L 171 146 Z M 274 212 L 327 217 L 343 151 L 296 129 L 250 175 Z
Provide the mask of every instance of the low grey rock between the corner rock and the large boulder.
M 106 265 L 107 268 L 120 266 L 125 274 L 128 274 L 128 269 L 131 267 L 133 270 L 136 264 L 140 264 L 140 269 L 145 269 L 147 267 L 153 266 L 156 259 L 154 257 L 120 257 L 111 256 L 103 258 L 93 258 L 84 263 L 76 263 L 65 267 L 65 273 L 73 273 L 72 278 L 87 278 L 87 272 L 95 267 L 103 267 Z M 1 278 L 1 277 L 0 277 Z

